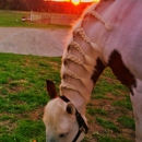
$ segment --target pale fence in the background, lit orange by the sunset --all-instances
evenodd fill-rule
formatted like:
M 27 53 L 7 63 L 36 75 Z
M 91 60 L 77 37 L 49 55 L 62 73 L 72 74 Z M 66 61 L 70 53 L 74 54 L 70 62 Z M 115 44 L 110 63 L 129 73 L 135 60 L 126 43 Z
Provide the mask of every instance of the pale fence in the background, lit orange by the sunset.
M 58 13 L 44 13 L 31 12 L 31 21 L 45 23 L 45 24 L 59 24 L 70 25 L 73 21 L 78 20 L 79 15 L 73 14 L 58 14 Z

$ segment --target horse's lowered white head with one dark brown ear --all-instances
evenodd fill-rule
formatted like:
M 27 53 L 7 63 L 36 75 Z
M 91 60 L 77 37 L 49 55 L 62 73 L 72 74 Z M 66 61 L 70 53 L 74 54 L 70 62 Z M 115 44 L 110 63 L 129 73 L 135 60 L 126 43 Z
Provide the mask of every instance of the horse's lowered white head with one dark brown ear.
M 51 100 L 46 105 L 44 114 L 46 142 L 80 142 L 85 132 L 83 129 L 80 131 L 79 121 L 82 120 L 76 118 L 79 114 L 74 105 L 57 96 L 55 84 L 50 81 L 47 81 L 47 91 Z

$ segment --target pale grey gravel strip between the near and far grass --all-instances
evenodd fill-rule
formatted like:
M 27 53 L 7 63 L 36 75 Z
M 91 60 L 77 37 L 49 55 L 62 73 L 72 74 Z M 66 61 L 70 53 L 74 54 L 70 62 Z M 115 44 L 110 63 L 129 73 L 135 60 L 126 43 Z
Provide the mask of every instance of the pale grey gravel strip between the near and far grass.
M 0 52 L 62 56 L 69 29 L 0 27 Z

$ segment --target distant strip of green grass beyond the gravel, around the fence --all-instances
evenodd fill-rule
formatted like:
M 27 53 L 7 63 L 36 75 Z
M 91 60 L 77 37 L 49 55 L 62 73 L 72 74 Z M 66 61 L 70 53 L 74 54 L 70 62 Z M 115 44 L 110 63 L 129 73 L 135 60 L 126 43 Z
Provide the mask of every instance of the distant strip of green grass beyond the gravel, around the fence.
M 42 24 L 35 22 L 22 22 L 22 17 L 31 17 L 31 12 L 0 11 L 0 26 L 4 27 L 33 27 L 33 28 L 64 28 L 66 25 Z

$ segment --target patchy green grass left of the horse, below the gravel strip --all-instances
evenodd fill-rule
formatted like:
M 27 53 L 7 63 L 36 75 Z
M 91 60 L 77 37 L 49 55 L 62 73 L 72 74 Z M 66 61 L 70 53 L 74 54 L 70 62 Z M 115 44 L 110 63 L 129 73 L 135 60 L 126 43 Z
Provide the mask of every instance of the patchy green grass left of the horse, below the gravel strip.
M 0 54 L 0 141 L 45 141 L 45 80 L 60 82 L 60 58 Z

